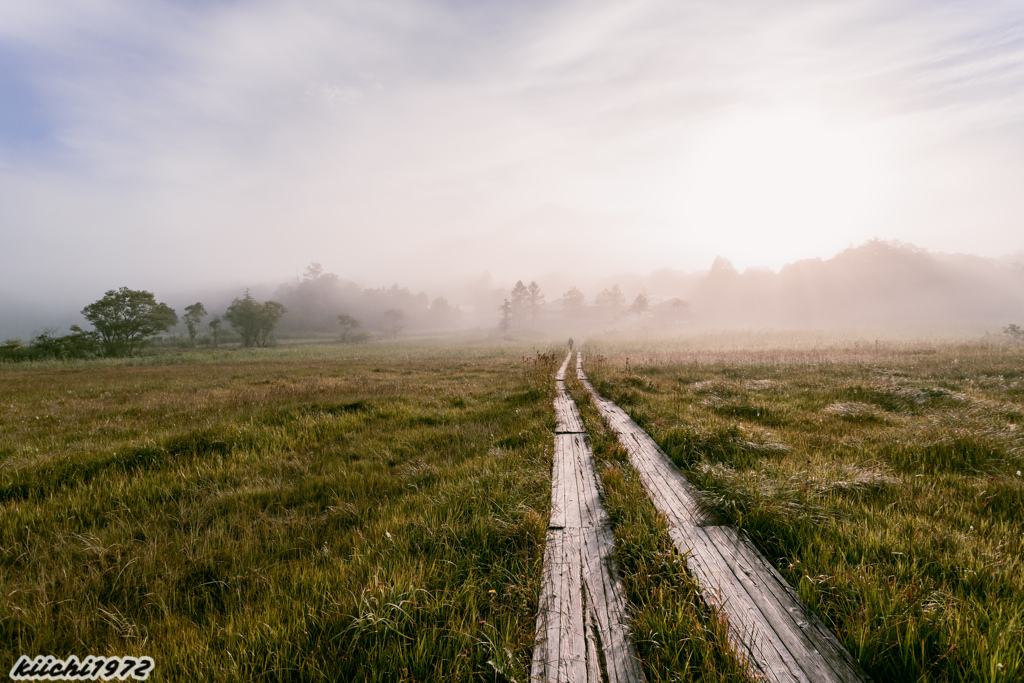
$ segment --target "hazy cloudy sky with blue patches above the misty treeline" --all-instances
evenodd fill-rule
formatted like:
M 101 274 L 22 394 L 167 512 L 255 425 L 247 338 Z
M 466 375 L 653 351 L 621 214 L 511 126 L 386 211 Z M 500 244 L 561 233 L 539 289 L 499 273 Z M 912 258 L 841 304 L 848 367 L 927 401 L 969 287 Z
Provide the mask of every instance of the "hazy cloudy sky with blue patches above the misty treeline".
M 0 2 L 8 301 L 999 256 L 1021 187 L 1020 2 Z

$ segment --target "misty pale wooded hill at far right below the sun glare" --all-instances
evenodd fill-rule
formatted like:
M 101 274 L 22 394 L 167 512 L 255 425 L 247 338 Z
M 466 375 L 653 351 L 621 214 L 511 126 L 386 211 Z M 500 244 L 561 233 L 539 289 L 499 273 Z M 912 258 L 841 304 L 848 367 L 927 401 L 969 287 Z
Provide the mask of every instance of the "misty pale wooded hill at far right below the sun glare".
M 873 240 L 778 272 L 738 272 L 719 258 L 689 298 L 695 317 L 709 324 L 1010 322 L 1024 317 L 1024 265 Z

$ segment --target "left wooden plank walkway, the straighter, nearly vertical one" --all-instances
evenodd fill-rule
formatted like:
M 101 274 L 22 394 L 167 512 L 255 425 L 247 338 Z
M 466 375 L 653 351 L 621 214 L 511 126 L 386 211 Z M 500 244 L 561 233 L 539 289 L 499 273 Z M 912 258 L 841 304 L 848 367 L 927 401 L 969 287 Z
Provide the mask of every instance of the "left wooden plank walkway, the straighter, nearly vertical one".
M 594 454 L 580 412 L 565 393 L 570 356 L 556 376 L 551 523 L 530 681 L 640 683 L 643 672 L 627 627 Z

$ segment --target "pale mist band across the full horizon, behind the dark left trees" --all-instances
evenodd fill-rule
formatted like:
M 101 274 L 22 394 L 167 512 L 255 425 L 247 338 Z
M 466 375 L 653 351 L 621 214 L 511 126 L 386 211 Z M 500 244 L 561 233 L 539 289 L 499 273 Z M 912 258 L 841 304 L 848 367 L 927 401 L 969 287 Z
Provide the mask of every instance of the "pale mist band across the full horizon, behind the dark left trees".
M 778 270 L 739 270 L 719 257 L 703 271 L 662 268 L 644 274 L 609 271 L 582 278 L 553 271 L 524 275 L 517 283 L 522 289 L 483 272 L 447 281 L 438 278 L 423 290 L 401 283 L 365 287 L 313 263 L 301 275 L 250 291 L 286 306 L 276 331 L 286 339 L 344 336 L 339 315 L 357 322 L 359 340 L 467 333 L 506 338 L 608 331 L 685 333 L 737 327 L 999 332 L 1008 324 L 1024 321 L 1020 256 L 934 254 L 878 240 L 831 258 L 787 263 Z M 526 283 L 537 288 L 532 301 Z M 162 292 L 158 298 L 179 312 L 202 300 L 216 315 L 242 294 L 241 289 L 211 288 Z M 517 296 L 525 298 L 517 301 Z M 503 302 L 509 307 L 505 313 Z M 81 305 L 86 303 L 82 300 Z M 74 309 L 26 305 L 4 310 L 2 322 L 0 336 L 29 337 L 82 319 Z M 171 336 L 182 334 L 183 324 L 170 331 Z

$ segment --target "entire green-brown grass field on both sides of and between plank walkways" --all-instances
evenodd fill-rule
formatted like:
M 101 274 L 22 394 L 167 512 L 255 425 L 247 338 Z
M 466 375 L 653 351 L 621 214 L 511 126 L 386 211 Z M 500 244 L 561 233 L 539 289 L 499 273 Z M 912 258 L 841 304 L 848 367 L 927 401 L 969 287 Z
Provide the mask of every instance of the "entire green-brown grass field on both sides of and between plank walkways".
M 147 654 L 161 681 L 525 683 L 554 350 L 0 367 L 0 669 Z M 1020 349 L 730 335 L 586 353 L 876 680 L 1024 676 Z M 648 681 L 749 680 L 569 376 Z

